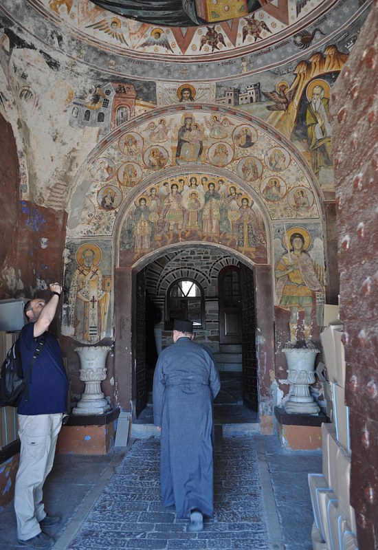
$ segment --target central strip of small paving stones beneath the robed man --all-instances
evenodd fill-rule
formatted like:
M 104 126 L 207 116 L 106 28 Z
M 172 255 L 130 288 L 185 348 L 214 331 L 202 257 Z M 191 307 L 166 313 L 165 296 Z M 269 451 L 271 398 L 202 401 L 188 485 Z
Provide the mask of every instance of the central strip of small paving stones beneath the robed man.
M 159 503 L 159 439 L 135 441 L 67 550 L 269 550 L 253 437 L 223 439 L 214 474 L 214 517 L 188 533 Z

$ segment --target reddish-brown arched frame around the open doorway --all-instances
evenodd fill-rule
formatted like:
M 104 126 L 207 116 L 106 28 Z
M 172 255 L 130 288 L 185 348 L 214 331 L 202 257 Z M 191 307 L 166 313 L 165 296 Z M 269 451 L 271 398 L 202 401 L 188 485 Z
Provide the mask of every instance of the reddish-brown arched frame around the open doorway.
M 115 380 L 117 380 L 116 395 L 118 404 L 125 410 L 131 410 L 134 417 L 137 415 L 137 393 L 140 389 L 140 379 L 137 375 L 137 347 L 140 344 L 138 338 L 137 322 L 142 318 L 138 314 L 137 295 L 140 293 L 142 278 L 138 278 L 146 266 L 152 261 L 164 261 L 169 252 L 178 254 L 181 250 L 193 247 L 204 248 L 204 250 L 215 250 L 227 256 L 227 248 L 221 245 L 205 243 L 175 244 L 162 252 L 154 252 L 144 257 L 132 267 L 117 267 L 115 270 L 115 294 L 119 297 L 115 304 Z M 240 253 L 234 253 L 238 260 L 242 258 Z M 258 417 L 263 430 L 272 428 L 273 402 L 271 399 L 271 368 L 274 365 L 274 341 L 273 316 L 265 314 L 267 307 L 272 311 L 272 278 L 271 267 L 267 265 L 253 265 L 256 287 L 261 292 L 256 294 L 256 357 L 259 382 L 258 395 Z M 139 287 L 138 287 L 139 285 Z M 269 307 L 269 302 L 271 303 Z

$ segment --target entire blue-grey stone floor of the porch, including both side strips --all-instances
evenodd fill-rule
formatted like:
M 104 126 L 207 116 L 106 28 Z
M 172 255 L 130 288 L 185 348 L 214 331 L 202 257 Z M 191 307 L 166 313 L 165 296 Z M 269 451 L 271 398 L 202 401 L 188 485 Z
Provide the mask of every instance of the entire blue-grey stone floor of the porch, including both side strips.
M 312 550 L 307 473 L 322 470 L 320 452 L 289 452 L 276 436 L 216 441 L 214 517 L 201 533 L 164 508 L 159 439 L 129 441 L 107 456 L 58 455 L 45 503 L 62 524 L 54 550 Z M 16 541 L 12 504 L 0 511 L 0 550 Z

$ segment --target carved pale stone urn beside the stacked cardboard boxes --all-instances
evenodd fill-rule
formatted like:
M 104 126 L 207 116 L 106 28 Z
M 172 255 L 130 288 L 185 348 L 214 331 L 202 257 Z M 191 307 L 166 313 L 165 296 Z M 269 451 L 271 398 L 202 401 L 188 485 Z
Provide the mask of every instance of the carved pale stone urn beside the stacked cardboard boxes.
M 287 380 L 290 383 L 285 412 L 291 415 L 318 415 L 320 408 L 310 393 L 310 384 L 315 382 L 315 358 L 319 350 L 285 348 L 282 351 L 287 360 Z

